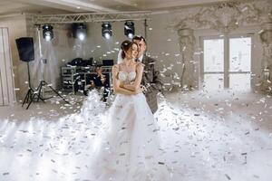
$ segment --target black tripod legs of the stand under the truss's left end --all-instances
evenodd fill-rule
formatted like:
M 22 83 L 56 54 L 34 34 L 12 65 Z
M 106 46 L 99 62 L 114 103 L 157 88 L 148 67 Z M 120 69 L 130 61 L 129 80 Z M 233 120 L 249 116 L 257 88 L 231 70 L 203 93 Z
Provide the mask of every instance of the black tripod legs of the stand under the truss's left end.
M 66 103 L 70 104 L 70 102 L 67 101 L 67 100 L 65 100 L 65 99 L 63 98 L 63 96 L 62 96 L 61 94 L 59 94 L 59 92 L 58 92 L 57 90 L 54 90 L 53 87 L 52 87 L 50 84 L 48 84 L 46 81 L 40 81 L 37 90 L 33 91 L 33 94 L 31 95 L 31 98 L 30 98 L 30 101 L 29 101 L 29 103 L 28 103 L 28 105 L 27 105 L 27 107 L 26 107 L 26 110 L 28 110 L 29 106 L 30 106 L 31 103 L 34 101 L 35 97 L 36 97 L 37 101 L 39 101 L 39 100 L 43 100 L 43 101 L 44 101 L 44 100 L 48 100 L 48 99 L 53 98 L 53 97 L 50 97 L 50 98 L 46 98 L 46 99 L 45 99 L 45 98 L 42 97 L 41 92 L 42 92 L 42 90 L 43 90 L 43 88 L 44 88 L 45 86 L 46 86 L 46 87 L 49 87 L 51 90 L 53 90 L 53 92 L 54 92 L 58 97 L 60 97 L 61 99 L 63 99 Z M 29 90 L 29 91 L 31 91 L 31 90 Z

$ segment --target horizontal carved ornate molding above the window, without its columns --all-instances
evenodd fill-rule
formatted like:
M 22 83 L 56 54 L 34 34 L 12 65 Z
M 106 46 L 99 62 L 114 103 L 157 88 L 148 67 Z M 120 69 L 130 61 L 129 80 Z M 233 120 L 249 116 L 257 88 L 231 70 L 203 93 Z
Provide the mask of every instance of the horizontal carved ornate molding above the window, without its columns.
M 214 29 L 220 33 L 229 33 L 239 26 L 271 22 L 271 14 L 272 2 L 270 0 L 255 0 L 249 3 L 234 1 L 181 9 L 176 12 L 176 18 L 170 23 L 170 26 L 175 30 Z

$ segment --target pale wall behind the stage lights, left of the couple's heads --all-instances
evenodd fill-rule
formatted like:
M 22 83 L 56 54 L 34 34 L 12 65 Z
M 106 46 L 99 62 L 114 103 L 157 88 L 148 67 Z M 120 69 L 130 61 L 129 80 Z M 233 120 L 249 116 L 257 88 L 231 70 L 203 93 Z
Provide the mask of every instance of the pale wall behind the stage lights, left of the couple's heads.
M 123 22 L 112 23 L 112 38 L 105 40 L 102 38 L 102 24 L 89 23 L 88 36 L 84 41 L 74 39 L 71 34 L 71 24 L 54 25 L 54 39 L 45 42 L 42 38 L 42 54 L 47 59 L 44 64 L 44 80 L 53 83 L 54 88 L 61 88 L 61 66 L 71 62 L 74 58 L 90 59 L 102 62 L 103 59 L 113 59 L 116 61 L 117 53 L 122 41 L 126 40 L 123 33 Z M 135 22 L 136 33 L 142 34 L 143 22 Z M 40 62 L 39 45 L 37 31 L 30 29 L 35 39 L 35 61 L 32 62 L 32 78 L 35 84 L 42 78 L 41 71 L 43 64 Z M 41 35 L 42 36 L 42 35 Z

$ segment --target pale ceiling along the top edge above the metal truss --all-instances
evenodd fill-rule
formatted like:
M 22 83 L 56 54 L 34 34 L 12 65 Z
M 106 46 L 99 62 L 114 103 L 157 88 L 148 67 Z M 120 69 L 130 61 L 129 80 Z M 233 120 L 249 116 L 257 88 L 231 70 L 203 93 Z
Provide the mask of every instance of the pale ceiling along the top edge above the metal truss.
M 0 0 L 0 14 L 158 11 L 230 0 Z

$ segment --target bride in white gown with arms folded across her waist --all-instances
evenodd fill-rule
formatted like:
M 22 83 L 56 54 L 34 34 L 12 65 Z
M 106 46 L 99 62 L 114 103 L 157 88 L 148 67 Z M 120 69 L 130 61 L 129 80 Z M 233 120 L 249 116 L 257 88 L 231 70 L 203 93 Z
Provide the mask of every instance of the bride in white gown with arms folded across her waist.
M 167 167 L 160 158 L 158 127 L 143 95 L 144 64 L 135 62 L 138 45 L 121 43 L 118 64 L 112 67 L 116 98 L 110 109 L 109 127 L 93 163 L 95 180 L 166 181 Z

